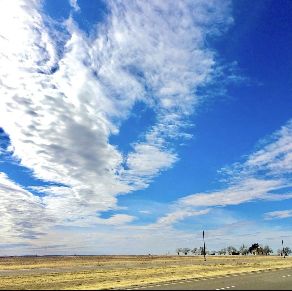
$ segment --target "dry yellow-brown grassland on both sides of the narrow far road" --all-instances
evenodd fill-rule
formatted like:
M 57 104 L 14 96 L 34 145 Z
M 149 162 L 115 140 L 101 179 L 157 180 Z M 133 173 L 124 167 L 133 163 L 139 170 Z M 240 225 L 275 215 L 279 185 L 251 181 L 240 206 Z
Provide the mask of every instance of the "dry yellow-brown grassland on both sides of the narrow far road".
M 161 263 L 161 266 L 143 264 Z M 172 265 L 165 264 L 171 263 Z M 180 263 L 178 265 L 177 263 Z M 187 264 L 184 264 L 187 263 Z M 193 263 L 193 264 L 190 264 Z M 111 265 L 141 264 L 111 269 Z M 286 256 L 62 256 L 0 258 L 0 270 L 109 266 L 108 269 L 45 274 L 1 275 L 0 290 L 110 290 L 151 283 L 291 268 Z

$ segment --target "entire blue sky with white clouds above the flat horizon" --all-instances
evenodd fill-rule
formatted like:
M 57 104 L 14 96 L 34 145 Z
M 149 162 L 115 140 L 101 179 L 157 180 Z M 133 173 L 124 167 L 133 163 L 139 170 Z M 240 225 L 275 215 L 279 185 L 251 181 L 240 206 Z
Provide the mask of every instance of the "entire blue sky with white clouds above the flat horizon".
M 0 8 L 0 255 L 292 247 L 291 1 Z

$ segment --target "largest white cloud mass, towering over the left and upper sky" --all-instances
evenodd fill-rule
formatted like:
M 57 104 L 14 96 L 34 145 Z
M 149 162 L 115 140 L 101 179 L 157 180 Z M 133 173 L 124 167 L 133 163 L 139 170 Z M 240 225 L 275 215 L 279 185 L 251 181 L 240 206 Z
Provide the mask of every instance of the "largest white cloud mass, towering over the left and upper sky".
M 106 22 L 89 38 L 72 18 L 54 31 L 41 2 L 1 6 L 0 124 L 13 158 L 56 183 L 34 187 L 46 209 L 83 224 L 178 161 L 171 139 L 188 137 L 196 88 L 215 66 L 204 39 L 232 22 L 228 3 L 109 1 Z M 157 121 L 123 154 L 109 137 L 137 101 Z

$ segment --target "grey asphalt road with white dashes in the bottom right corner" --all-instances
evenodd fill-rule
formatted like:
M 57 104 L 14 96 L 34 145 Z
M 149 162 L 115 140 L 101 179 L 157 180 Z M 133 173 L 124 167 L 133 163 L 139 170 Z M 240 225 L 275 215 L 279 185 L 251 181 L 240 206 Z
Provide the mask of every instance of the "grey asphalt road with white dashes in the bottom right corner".
M 292 268 L 119 290 L 292 290 Z

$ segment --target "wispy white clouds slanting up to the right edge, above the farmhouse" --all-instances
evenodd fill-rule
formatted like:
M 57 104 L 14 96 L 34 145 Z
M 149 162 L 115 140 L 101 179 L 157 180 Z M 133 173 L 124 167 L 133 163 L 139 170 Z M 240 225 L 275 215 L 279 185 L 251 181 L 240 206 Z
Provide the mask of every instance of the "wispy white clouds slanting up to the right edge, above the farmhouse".
M 246 156 L 244 163 L 234 163 L 218 170 L 224 178 L 219 181 L 222 189 L 195 193 L 182 197 L 171 206 L 166 216 L 157 220 L 182 221 L 197 209 L 211 211 L 212 207 L 225 207 L 258 201 L 281 201 L 291 199 L 292 123 L 291 120 L 266 139 L 260 150 Z M 186 211 L 188 209 L 188 211 Z M 265 220 L 290 217 L 290 210 L 264 213 Z M 204 214 L 198 211 L 198 214 Z M 170 219 L 170 218 L 173 219 Z

